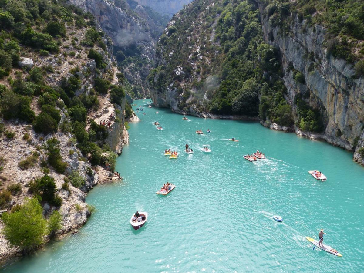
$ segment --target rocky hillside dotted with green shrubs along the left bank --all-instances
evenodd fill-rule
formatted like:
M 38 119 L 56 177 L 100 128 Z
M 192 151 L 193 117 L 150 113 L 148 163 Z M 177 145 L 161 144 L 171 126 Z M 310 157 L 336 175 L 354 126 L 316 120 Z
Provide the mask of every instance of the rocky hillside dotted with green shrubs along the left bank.
M 107 127 L 92 120 L 91 114 L 99 110 L 101 100 L 110 100 L 120 109 L 124 77 L 113 67 L 111 41 L 94 16 L 66 1 L 0 1 L 0 31 L 0 142 L 4 146 L 0 208 L 11 209 L 3 214 L 1 236 L 10 245 L 29 249 L 60 229 L 64 215 L 61 219 L 58 210 L 64 202 L 78 201 L 62 198 L 61 191 L 71 194 L 75 189 L 70 185 L 88 189 L 95 178 L 91 165 L 114 158 L 106 145 Z M 113 116 L 116 124 L 121 122 L 119 114 L 115 111 Z M 9 146 L 23 147 L 9 150 Z M 9 160 L 9 154 L 19 151 L 23 151 L 19 162 L 16 157 Z M 74 162 L 77 166 L 72 166 Z M 83 173 L 78 171 L 80 162 Z M 34 175 L 30 181 L 10 183 L 27 179 L 29 173 Z M 21 206 L 24 197 L 34 198 Z M 10 203 L 12 199 L 16 205 Z M 48 214 L 49 221 L 43 218 L 41 205 L 55 211 L 53 218 Z

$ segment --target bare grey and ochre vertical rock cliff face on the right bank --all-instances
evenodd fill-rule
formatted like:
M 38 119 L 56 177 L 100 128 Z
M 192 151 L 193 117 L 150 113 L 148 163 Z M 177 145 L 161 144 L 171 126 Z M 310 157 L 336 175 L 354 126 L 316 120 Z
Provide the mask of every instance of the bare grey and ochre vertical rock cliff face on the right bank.
M 364 126 L 364 79 L 354 77 L 351 64 L 328 54 L 326 31 L 320 25 L 308 27 L 305 20 L 300 23 L 296 17 L 290 34 L 282 35 L 279 27 L 269 25 L 262 4 L 260 11 L 265 41 L 281 52 L 283 79 L 288 90 L 286 99 L 294 109 L 294 97 L 309 92 L 309 104 L 319 108 L 325 117 L 327 126 L 323 134 L 300 134 L 353 150 Z M 302 72 L 305 84 L 294 81 L 289 70 L 292 65 Z

